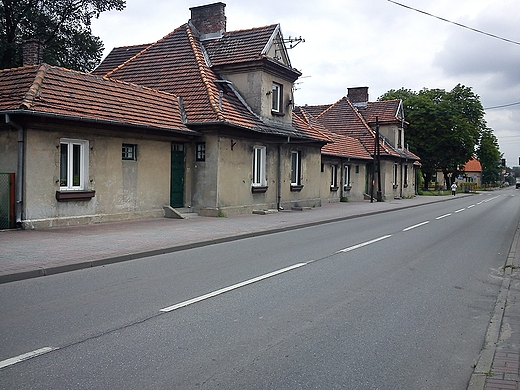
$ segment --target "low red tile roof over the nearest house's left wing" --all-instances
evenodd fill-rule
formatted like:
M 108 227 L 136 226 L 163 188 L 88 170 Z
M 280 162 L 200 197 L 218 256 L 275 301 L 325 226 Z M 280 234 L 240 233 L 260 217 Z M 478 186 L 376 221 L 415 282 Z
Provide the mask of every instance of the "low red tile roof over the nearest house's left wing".
M 50 65 L 0 71 L 0 110 L 198 134 L 169 93 Z

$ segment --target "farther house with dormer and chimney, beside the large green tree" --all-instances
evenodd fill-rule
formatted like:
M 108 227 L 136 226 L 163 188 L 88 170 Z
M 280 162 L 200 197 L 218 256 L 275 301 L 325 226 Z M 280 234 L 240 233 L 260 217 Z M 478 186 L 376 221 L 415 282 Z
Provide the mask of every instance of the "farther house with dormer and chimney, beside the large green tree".
M 368 152 L 371 160 L 363 168 L 356 168 L 364 171 L 364 194 L 380 191 L 384 199 L 415 195 L 419 157 L 404 145 L 405 120 L 400 100 L 369 102 L 367 87 L 348 88 L 347 96 L 334 104 L 304 106 L 301 110 L 331 132 L 356 139 Z M 331 147 L 327 145 L 324 150 Z M 334 165 L 329 168 L 331 176 Z

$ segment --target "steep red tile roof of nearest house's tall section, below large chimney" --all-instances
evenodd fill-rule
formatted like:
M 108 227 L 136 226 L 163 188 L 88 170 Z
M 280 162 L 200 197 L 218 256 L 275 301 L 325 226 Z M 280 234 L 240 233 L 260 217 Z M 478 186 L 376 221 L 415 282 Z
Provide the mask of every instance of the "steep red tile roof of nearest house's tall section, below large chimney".
M 260 56 L 261 50 L 267 44 L 276 26 L 253 29 L 258 33 L 260 38 L 257 38 L 262 43 L 244 44 L 237 58 L 253 58 L 254 50 L 260 50 L 258 53 Z M 247 34 L 226 33 L 226 36 L 230 37 L 242 35 Z M 229 43 L 227 39 L 224 42 Z M 204 44 L 211 46 L 213 53 L 219 53 L 214 54 L 214 59 L 217 61 L 223 61 L 224 53 L 229 50 L 227 46 L 219 51 L 217 43 L 209 43 L 209 41 Z M 309 133 L 300 132 L 290 124 L 263 121 L 247 106 L 232 84 L 219 78 L 206 58 L 201 42 L 189 24 L 184 24 L 107 72 L 106 76 L 179 96 L 186 110 L 188 125 L 191 126 L 221 123 L 254 132 L 314 139 Z

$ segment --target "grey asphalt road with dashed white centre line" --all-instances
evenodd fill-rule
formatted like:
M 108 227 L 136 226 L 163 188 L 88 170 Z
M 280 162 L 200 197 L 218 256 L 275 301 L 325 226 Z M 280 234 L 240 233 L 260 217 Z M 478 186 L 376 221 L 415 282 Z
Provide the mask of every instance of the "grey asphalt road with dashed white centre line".
M 493 192 L 0 285 L 0 388 L 466 389 L 519 206 Z

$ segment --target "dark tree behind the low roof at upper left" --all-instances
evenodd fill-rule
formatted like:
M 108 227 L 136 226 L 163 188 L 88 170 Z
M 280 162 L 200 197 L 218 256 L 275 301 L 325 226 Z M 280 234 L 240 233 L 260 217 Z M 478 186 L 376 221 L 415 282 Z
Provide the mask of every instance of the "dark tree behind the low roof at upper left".
M 125 0 L 0 0 L 0 66 L 21 66 L 23 42 L 37 39 L 44 62 L 90 71 L 103 53 L 103 43 L 91 33 L 92 18 L 125 5 Z

